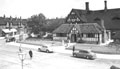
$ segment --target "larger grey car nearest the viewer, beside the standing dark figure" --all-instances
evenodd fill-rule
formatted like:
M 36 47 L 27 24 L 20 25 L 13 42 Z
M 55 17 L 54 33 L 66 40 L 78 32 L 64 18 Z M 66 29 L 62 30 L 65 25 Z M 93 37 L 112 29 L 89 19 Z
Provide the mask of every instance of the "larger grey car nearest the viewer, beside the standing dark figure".
M 73 52 L 74 57 L 83 57 L 86 59 L 95 59 L 96 54 L 93 53 L 91 50 L 78 50 Z

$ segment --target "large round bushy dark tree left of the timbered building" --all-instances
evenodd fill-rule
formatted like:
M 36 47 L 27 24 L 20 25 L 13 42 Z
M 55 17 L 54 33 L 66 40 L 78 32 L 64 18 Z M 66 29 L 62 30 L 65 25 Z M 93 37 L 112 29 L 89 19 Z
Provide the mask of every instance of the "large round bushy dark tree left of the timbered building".
M 43 30 L 44 24 L 46 23 L 46 17 L 40 13 L 38 15 L 32 15 L 28 19 L 27 25 L 31 28 L 31 32 L 38 34 Z

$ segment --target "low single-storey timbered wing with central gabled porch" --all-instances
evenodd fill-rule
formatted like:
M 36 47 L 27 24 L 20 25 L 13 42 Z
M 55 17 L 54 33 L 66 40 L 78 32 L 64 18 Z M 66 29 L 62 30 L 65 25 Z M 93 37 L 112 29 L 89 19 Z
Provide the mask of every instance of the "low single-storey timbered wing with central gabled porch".
M 62 24 L 53 31 L 53 40 L 101 44 L 110 40 L 110 31 L 97 23 Z

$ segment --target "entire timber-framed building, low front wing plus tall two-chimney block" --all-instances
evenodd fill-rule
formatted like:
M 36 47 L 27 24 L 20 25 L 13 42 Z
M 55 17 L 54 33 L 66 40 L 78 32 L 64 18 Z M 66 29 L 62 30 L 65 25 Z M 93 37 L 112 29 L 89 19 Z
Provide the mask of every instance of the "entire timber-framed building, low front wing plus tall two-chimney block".
M 53 31 L 53 39 L 69 39 L 71 42 L 82 39 L 87 43 L 109 42 L 114 32 L 120 30 L 120 9 L 107 9 L 107 1 L 104 3 L 103 10 L 90 10 L 88 2 L 85 10 L 72 9 L 65 24 Z

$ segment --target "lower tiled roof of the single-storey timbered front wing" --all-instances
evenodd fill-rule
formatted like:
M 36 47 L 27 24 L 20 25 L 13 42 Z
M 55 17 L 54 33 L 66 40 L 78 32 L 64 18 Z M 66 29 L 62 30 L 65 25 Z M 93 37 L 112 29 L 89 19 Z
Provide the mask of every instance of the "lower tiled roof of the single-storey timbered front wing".
M 53 33 L 70 33 L 72 28 L 75 27 L 78 33 L 101 33 L 103 28 L 97 23 L 83 23 L 83 24 L 62 24 Z

